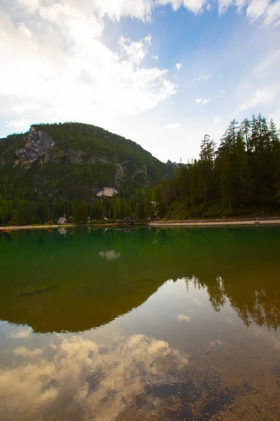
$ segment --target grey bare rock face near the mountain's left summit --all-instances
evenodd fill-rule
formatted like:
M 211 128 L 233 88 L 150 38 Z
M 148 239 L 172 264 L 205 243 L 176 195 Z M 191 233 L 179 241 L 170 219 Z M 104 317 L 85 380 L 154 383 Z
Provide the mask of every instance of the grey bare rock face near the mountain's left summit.
M 15 164 L 22 163 L 29 167 L 38 158 L 43 158 L 44 162 L 48 161 L 48 151 L 55 146 L 55 141 L 50 138 L 48 133 L 40 128 L 31 127 L 25 140 L 25 147 L 15 151 L 18 156 L 18 161 Z

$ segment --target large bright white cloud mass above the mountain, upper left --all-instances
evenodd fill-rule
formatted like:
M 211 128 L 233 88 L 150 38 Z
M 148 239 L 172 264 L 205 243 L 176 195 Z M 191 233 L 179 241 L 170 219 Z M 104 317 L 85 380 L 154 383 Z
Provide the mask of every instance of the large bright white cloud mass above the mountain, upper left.
M 176 92 L 166 69 L 144 65 L 151 36 L 120 36 L 118 51 L 104 44 L 102 16 L 118 19 L 109 2 L 12 3 L 0 16 L 0 114 L 11 130 L 25 122 L 26 130 L 34 119 L 106 126 L 111 116 L 144 112 Z M 127 2 L 118 3 L 119 12 L 132 13 Z M 135 17 L 149 10 L 137 5 Z

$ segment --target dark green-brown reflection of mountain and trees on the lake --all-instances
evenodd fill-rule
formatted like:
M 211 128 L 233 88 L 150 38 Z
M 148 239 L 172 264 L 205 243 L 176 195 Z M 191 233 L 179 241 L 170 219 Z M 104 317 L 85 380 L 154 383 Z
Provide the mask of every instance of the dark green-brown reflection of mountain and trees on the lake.
M 279 327 L 279 228 L 70 231 L 0 235 L 1 319 L 79 332 L 185 277 L 216 312 L 229 301 L 246 326 Z

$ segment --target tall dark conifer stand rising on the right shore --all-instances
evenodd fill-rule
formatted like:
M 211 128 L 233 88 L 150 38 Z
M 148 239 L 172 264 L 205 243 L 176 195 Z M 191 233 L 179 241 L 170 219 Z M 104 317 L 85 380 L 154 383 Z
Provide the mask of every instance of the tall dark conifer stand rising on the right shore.
M 274 121 L 259 114 L 230 122 L 217 147 L 209 135 L 200 157 L 180 164 L 155 187 L 161 218 L 209 218 L 280 211 L 280 141 Z

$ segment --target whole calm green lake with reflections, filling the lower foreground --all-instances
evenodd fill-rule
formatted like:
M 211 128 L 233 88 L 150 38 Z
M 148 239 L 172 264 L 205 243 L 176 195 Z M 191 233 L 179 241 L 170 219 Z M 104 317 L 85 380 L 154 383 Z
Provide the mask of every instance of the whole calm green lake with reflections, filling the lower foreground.
M 280 420 L 280 228 L 0 233 L 0 420 Z

